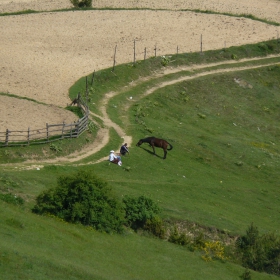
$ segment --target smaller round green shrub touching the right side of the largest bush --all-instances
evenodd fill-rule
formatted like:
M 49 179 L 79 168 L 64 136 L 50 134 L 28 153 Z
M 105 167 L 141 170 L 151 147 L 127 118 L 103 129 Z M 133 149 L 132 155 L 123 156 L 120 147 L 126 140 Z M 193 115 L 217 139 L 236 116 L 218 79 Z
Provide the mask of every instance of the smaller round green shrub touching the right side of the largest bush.
M 135 230 L 143 228 L 147 220 L 153 219 L 161 212 L 159 206 L 145 196 L 138 198 L 125 196 L 123 203 L 126 224 Z

